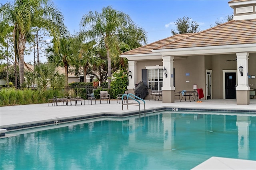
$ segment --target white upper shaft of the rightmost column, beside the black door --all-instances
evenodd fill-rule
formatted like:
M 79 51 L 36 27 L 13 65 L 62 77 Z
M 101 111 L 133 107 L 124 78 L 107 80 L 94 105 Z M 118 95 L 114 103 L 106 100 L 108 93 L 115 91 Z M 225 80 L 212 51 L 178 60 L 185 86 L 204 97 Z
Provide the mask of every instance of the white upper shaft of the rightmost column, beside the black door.
M 248 83 L 248 55 L 249 53 L 236 53 L 237 56 L 237 87 L 236 90 L 250 90 Z M 243 66 L 243 76 L 238 67 Z

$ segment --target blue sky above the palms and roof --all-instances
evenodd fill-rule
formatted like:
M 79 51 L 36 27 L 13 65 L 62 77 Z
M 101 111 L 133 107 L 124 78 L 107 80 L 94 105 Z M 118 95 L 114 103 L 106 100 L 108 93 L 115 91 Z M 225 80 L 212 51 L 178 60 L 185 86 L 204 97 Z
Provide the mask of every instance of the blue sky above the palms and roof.
M 13 1 L 13 0 L 12 0 Z M 0 0 L 0 3 L 7 1 Z M 101 12 L 103 7 L 112 6 L 122 11 L 147 32 L 148 43 L 170 37 L 175 29 L 174 22 L 187 16 L 199 23 L 200 29 L 213 26 L 216 20 L 226 22 L 233 14 L 229 0 L 53 0 L 64 15 L 64 23 L 70 33 L 80 30 L 82 16 L 90 10 Z M 27 62 L 29 59 L 26 59 Z M 44 61 L 44 60 L 43 60 Z M 45 60 L 46 61 L 46 60 Z

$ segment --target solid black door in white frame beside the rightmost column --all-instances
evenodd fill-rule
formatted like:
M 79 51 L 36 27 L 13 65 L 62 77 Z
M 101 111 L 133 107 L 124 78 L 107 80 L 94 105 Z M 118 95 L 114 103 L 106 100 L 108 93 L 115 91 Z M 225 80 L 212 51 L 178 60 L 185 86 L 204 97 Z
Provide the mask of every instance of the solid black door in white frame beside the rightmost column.
M 236 98 L 236 73 L 226 72 L 225 73 L 225 94 L 226 99 Z

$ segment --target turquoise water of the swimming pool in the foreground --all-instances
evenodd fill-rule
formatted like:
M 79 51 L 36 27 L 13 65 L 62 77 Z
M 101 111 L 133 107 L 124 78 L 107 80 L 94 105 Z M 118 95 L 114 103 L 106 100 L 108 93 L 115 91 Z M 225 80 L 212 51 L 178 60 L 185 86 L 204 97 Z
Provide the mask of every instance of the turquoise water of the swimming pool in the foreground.
M 256 115 L 187 113 L 14 131 L 0 139 L 0 169 L 180 170 L 212 156 L 256 160 Z

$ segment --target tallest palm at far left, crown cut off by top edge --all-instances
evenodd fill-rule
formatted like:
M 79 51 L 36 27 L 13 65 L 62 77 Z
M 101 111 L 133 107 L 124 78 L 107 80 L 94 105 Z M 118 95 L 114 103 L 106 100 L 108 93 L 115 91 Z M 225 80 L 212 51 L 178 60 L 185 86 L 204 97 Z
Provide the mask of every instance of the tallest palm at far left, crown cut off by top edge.
M 19 58 L 20 85 L 24 82 L 24 50 L 27 36 L 32 27 L 40 27 L 49 31 L 54 37 L 54 47 L 58 46 L 58 37 L 66 28 L 63 16 L 50 0 L 15 0 L 0 5 L 0 18 L 14 25 L 15 53 Z M 1 24 L 0 24 L 1 25 Z

